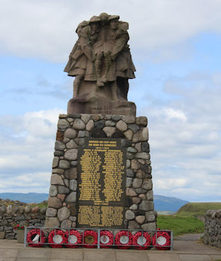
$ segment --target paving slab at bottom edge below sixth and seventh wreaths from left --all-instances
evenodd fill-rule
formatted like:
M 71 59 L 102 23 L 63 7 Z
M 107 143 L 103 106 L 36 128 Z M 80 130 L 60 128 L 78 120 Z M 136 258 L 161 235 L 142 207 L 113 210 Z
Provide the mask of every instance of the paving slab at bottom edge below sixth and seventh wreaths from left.
M 117 261 L 148 261 L 146 253 L 133 251 L 115 251 Z M 111 260 L 111 259 L 110 259 Z M 180 260 L 179 260 L 180 261 Z

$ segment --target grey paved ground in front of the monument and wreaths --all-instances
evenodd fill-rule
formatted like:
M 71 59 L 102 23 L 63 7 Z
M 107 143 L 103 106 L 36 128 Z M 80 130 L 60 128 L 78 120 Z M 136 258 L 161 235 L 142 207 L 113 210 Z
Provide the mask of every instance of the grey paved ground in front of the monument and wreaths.
M 182 238 L 183 237 L 183 238 Z M 212 261 L 221 260 L 221 249 L 195 242 L 201 235 L 174 240 L 173 251 L 133 249 L 24 248 L 16 240 L 0 240 L 0 261 Z M 188 240 L 191 238 L 191 240 Z M 188 240 L 188 241 L 187 241 Z

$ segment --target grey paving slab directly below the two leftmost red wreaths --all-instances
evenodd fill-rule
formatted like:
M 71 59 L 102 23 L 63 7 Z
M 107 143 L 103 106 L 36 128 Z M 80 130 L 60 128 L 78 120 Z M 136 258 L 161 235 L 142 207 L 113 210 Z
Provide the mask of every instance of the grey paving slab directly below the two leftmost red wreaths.
M 34 260 L 34 258 L 39 258 L 39 259 L 48 258 L 48 260 L 49 260 L 50 252 L 51 252 L 51 249 L 44 249 L 44 248 L 19 249 L 17 257 L 18 258 L 32 258 L 32 260 Z

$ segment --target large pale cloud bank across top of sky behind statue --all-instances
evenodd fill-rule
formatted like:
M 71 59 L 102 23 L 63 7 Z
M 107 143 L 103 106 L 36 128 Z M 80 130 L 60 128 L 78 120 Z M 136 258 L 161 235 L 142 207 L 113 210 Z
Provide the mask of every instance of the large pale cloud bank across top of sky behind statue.
M 8 0 L 0 11 L 1 52 L 64 62 L 77 39 L 79 22 L 108 12 L 129 22 L 133 53 L 144 57 L 157 51 L 158 58 L 171 59 L 173 53 L 188 53 L 182 44 L 191 37 L 221 32 L 220 8 L 219 0 Z

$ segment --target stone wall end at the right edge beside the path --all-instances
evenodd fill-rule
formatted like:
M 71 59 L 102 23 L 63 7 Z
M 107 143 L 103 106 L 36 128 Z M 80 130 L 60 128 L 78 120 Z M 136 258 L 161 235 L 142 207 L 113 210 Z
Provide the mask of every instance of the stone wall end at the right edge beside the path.
M 221 248 L 221 209 L 206 212 L 203 241 Z

